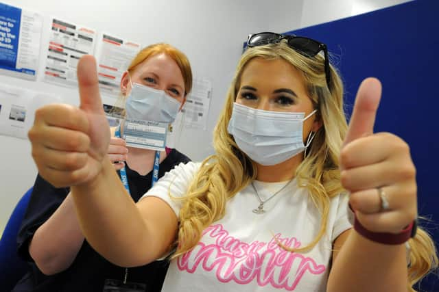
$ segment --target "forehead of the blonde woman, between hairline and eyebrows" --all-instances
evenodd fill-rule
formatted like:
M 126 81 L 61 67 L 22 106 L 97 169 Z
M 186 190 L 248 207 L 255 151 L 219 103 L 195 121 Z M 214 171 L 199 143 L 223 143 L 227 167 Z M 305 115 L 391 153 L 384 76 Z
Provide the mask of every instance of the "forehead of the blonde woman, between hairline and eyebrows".
M 241 85 L 272 88 L 303 88 L 305 82 L 300 71 L 285 59 L 251 59 L 241 74 Z

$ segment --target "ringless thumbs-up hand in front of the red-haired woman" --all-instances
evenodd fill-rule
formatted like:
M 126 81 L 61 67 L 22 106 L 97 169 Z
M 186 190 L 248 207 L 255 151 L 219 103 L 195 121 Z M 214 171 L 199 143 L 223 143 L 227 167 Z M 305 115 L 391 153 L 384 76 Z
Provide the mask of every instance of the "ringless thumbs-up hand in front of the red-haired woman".
M 91 181 L 102 169 L 110 128 L 99 94 L 94 57 L 78 63 L 80 107 L 41 107 L 28 136 L 38 172 L 55 187 Z

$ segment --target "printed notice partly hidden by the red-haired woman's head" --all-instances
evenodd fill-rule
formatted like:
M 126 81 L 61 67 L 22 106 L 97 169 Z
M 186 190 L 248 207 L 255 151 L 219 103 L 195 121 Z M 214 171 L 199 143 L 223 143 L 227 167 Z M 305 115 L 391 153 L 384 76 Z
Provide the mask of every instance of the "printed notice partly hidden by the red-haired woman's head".
M 97 74 L 102 94 L 117 96 L 123 72 L 139 53 L 141 45 L 110 34 L 102 34 L 97 42 Z

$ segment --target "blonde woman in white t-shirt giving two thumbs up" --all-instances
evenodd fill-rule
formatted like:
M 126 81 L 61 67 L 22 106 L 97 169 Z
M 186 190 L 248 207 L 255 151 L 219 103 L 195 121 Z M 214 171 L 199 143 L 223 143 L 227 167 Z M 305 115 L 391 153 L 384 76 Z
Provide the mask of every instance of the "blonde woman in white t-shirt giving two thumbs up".
M 171 254 L 163 291 L 411 289 L 436 267 L 436 250 L 422 230 L 410 239 L 417 210 L 407 144 L 372 133 L 379 81 L 361 84 L 348 127 L 324 44 L 260 33 L 248 47 L 215 128 L 216 154 L 179 165 L 137 204 L 115 178 L 109 133 L 95 128 L 106 120 L 91 57 L 78 66 L 82 127 L 67 130 L 46 107 L 29 132 L 34 150 L 43 135 L 84 140 L 65 153 L 83 163 L 54 170 L 49 155 L 34 156 L 38 170 L 73 185 L 82 231 L 108 261 L 135 266 Z

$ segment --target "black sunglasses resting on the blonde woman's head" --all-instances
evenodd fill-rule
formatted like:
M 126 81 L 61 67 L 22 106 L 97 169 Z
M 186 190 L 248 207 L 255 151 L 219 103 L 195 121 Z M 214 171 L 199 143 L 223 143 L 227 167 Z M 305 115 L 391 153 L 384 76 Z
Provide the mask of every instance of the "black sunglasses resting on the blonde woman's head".
M 258 47 L 264 44 L 276 44 L 281 40 L 287 40 L 290 48 L 294 49 L 301 55 L 306 57 L 314 57 L 320 51 L 324 53 L 324 73 L 327 77 L 328 89 L 331 83 L 331 72 L 329 71 L 328 49 L 326 44 L 322 44 L 317 40 L 311 38 L 304 38 L 302 36 L 288 36 L 283 34 L 276 34 L 274 32 L 259 32 L 257 34 L 250 34 L 247 38 L 247 47 Z

